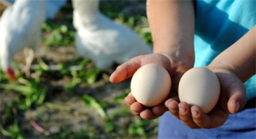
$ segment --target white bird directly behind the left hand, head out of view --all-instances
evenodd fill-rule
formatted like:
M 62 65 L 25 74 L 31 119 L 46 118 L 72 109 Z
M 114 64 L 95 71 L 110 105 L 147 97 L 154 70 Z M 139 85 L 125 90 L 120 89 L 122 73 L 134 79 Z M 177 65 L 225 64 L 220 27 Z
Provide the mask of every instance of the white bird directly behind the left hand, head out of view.
M 73 25 L 78 53 L 98 68 L 109 69 L 135 56 L 152 53 L 151 47 L 132 29 L 99 12 L 99 0 L 72 0 Z

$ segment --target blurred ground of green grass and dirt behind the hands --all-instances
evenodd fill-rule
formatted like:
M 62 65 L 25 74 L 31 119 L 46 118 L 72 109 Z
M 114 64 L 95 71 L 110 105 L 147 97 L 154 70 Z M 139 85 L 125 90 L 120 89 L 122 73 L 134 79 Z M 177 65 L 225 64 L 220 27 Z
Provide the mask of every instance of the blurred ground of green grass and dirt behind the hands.
M 146 0 L 101 0 L 99 10 L 152 45 L 145 6 Z M 112 84 L 111 72 L 78 54 L 72 21 L 67 1 L 42 25 L 31 77 L 20 72 L 23 51 L 13 59 L 17 81 L 0 69 L 0 138 L 156 138 L 158 120 L 142 120 L 124 104 L 130 79 Z

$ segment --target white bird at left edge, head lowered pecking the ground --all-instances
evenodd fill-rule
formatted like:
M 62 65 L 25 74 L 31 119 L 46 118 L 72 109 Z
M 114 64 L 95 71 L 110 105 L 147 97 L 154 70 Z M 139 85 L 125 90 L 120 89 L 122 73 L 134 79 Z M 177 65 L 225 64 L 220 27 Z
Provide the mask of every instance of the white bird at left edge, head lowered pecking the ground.
M 46 19 L 47 0 L 17 0 L 8 7 L 0 19 L 0 62 L 10 79 L 15 79 L 11 64 L 15 53 L 25 49 L 26 71 L 38 47 L 41 25 Z

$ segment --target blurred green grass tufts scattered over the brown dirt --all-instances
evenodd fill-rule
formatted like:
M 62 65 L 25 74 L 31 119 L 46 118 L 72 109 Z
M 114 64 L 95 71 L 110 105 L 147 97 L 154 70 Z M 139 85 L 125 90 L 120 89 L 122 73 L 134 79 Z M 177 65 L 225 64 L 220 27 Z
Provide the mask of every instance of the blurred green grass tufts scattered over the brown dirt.
M 152 44 L 152 37 L 150 29 L 147 25 L 147 19 L 144 16 L 125 17 L 120 13 L 120 9 L 126 4 L 125 1 L 117 5 L 106 5 L 101 7 L 101 11 L 106 16 L 112 19 L 116 19 L 123 25 L 133 29 L 138 35 L 140 35 L 148 44 Z M 110 10 L 111 9 L 111 10 Z M 48 20 L 43 26 L 42 31 L 44 36 L 41 39 L 41 43 L 48 47 L 67 47 L 74 45 L 75 30 L 70 26 L 56 24 L 52 20 Z M 27 78 L 24 74 L 16 71 L 18 81 L 9 81 L 5 74 L 0 69 L 0 95 L 12 93 L 14 98 L 8 104 L 0 106 L 0 134 L 3 134 L 9 138 L 27 138 L 26 132 L 22 129 L 20 116 L 27 111 L 33 111 L 37 108 L 45 106 L 48 109 L 68 111 L 72 109 L 66 106 L 55 104 L 52 100 L 48 100 L 50 94 L 48 94 L 51 88 L 51 83 L 48 78 L 49 75 L 54 75 L 55 78 L 63 79 L 70 78 L 71 82 L 64 87 L 63 91 L 71 92 L 71 95 L 80 98 L 84 108 L 90 108 L 97 112 L 102 121 L 104 122 L 104 129 L 100 131 L 103 134 L 109 136 L 109 138 L 150 138 L 156 133 L 157 120 L 145 121 L 132 115 L 130 109 L 123 105 L 123 99 L 130 92 L 127 88 L 122 92 L 122 95 L 116 96 L 111 101 L 100 100 L 95 95 L 75 95 L 72 92 L 76 87 L 81 84 L 86 84 L 87 87 L 92 87 L 99 83 L 104 76 L 109 76 L 108 73 L 104 73 L 88 59 L 83 59 L 77 56 L 73 60 L 66 63 L 58 63 L 59 71 L 51 71 L 49 65 L 44 60 L 37 58 L 36 64 L 39 67 L 34 69 L 33 73 L 36 75 L 34 78 Z M 14 64 L 17 64 L 14 62 Z M 68 69 L 70 66 L 79 66 L 82 70 Z M 52 77 L 53 78 L 53 77 Z M 48 79 L 48 80 L 47 80 Z M 54 80 L 54 79 L 52 79 Z M 55 79 L 56 80 L 56 79 Z M 0 102 L 0 104 L 2 104 Z M 113 106 L 122 106 L 110 113 L 106 112 L 106 109 Z M 42 111 L 44 113 L 45 111 Z M 125 129 L 116 129 L 116 120 L 120 117 L 127 117 L 132 115 L 134 121 L 128 125 L 123 126 Z M 41 120 L 40 122 L 44 122 Z M 126 128 L 128 127 L 128 128 Z M 150 128 L 149 128 L 150 127 Z M 101 138 L 98 126 L 90 124 L 88 130 L 81 130 L 74 132 L 72 130 L 61 128 L 61 132 L 53 134 L 43 134 L 46 138 Z M 1 136 L 1 135 L 0 135 Z

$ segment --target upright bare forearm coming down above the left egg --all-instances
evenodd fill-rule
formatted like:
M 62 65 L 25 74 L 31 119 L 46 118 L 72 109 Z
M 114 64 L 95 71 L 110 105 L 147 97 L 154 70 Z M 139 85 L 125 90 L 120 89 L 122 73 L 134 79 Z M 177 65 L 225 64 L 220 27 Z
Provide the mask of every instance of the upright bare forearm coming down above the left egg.
M 177 52 L 194 61 L 195 14 L 192 0 L 147 0 L 154 53 Z

